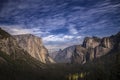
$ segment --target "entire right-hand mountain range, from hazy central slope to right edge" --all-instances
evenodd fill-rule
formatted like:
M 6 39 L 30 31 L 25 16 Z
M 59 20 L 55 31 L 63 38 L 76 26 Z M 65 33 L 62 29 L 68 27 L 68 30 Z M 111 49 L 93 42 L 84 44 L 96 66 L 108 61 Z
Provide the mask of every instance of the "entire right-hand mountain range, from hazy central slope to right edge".
M 120 32 L 102 39 L 97 37 L 86 37 L 83 44 L 68 47 L 58 52 L 55 60 L 64 63 L 85 63 L 106 55 L 112 50 L 120 50 Z

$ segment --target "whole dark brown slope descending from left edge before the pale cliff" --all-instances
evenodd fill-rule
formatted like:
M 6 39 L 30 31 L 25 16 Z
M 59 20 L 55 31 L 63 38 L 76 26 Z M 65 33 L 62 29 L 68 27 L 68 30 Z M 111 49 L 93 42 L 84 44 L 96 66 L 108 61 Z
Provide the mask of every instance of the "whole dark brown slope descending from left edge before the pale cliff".
M 15 38 L 0 28 L 0 63 L 40 67 L 40 61 L 31 57 L 27 51 L 22 49 Z M 1 65 L 1 64 L 0 64 Z

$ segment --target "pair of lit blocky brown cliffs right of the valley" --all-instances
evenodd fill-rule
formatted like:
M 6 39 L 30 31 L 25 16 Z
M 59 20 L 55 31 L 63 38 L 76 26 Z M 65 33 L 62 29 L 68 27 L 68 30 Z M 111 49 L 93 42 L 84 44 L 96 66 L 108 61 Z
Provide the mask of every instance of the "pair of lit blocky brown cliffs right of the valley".
M 113 45 L 109 37 L 102 39 L 97 37 L 85 38 L 83 47 L 87 49 L 86 59 L 93 60 L 108 53 Z

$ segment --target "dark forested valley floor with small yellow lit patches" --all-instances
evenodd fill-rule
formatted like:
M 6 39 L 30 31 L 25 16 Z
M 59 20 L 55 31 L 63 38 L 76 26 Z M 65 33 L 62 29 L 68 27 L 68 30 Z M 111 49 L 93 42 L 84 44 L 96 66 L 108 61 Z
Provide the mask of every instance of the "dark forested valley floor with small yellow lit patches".
M 0 80 L 119 80 L 120 53 L 84 65 L 47 64 L 42 68 L 0 65 Z

